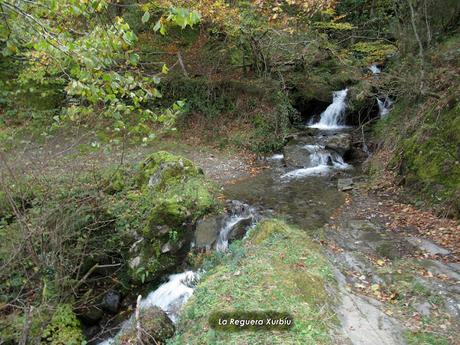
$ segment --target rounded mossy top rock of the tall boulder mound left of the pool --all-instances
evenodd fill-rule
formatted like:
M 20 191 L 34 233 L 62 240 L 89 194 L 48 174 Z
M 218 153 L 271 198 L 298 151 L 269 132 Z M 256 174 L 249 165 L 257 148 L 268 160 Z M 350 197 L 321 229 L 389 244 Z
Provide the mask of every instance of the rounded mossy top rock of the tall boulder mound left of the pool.
M 203 175 L 203 171 L 191 160 L 166 151 L 158 151 L 141 163 L 137 183 L 140 188 L 149 185 L 161 191 L 186 177 L 198 175 Z

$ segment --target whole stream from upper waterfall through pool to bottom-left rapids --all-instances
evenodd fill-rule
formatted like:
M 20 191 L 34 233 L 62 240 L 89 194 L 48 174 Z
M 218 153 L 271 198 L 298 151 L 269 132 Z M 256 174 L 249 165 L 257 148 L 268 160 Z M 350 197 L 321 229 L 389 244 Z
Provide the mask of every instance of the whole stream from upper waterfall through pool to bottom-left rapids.
M 347 92 L 347 89 L 334 92 L 333 103 L 321 114 L 318 123 L 309 126 L 320 129 L 315 137 L 316 143 L 298 144 L 309 156 L 308 167 L 289 169 L 284 164 L 284 155 L 275 154 L 268 159 L 271 169 L 225 187 L 226 196 L 234 201 L 219 223 L 215 250 L 226 251 L 233 232 L 247 231 L 259 219 L 252 206 L 262 209 L 263 216 L 283 216 L 304 229 L 315 229 L 328 221 L 332 211 L 343 203 L 333 175 L 349 174 L 352 167 L 338 152 L 326 148 L 323 143 L 329 136 L 348 128 L 344 126 Z M 140 307 L 160 307 L 173 322 L 177 322 L 181 307 L 193 294 L 198 279 L 199 274 L 192 271 L 173 274 L 141 300 Z M 132 317 L 125 321 L 120 332 L 133 322 Z M 115 338 L 100 345 L 113 344 Z

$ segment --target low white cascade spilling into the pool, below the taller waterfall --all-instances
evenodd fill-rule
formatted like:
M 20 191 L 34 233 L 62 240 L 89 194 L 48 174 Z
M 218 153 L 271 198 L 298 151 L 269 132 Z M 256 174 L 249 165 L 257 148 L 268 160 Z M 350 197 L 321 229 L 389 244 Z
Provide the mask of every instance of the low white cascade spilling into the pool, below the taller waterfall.
M 351 166 L 343 161 L 342 156 L 331 152 L 321 145 L 305 145 L 304 148 L 310 153 L 310 166 L 296 169 L 281 176 L 281 178 L 297 178 L 305 176 L 321 176 L 328 174 L 331 170 L 346 170 Z

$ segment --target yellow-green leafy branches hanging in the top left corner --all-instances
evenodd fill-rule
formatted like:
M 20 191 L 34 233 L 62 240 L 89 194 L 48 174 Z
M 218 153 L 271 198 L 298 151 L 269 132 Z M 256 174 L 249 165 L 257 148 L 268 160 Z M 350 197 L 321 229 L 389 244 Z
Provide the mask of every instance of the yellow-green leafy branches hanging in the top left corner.
M 141 72 L 140 57 L 133 49 L 137 36 L 122 17 L 112 20 L 106 16 L 110 1 L 40 0 L 40 6 L 34 6 L 5 0 L 2 5 L 8 23 L 1 26 L 6 42 L 3 53 L 23 61 L 14 79 L 18 90 L 9 94 L 18 98 L 24 90 L 40 90 L 39 99 L 43 100 L 47 85 L 51 86 L 49 92 L 60 96 L 60 103 L 64 91 L 67 94 L 66 104 L 44 104 L 47 111 L 53 110 L 43 115 L 52 119 L 48 123 L 87 123 L 96 115 L 103 119 L 96 129 L 108 131 L 108 140 L 122 136 L 144 141 L 151 138 L 154 126 L 173 125 L 180 104 L 170 107 L 171 102 L 162 109 L 151 104 L 161 97 L 157 84 L 167 67 L 148 77 Z M 182 28 L 199 20 L 197 12 L 184 8 L 172 8 L 165 17 L 170 25 Z M 14 99 L 8 102 L 14 104 Z M 16 113 L 26 110 L 14 109 Z

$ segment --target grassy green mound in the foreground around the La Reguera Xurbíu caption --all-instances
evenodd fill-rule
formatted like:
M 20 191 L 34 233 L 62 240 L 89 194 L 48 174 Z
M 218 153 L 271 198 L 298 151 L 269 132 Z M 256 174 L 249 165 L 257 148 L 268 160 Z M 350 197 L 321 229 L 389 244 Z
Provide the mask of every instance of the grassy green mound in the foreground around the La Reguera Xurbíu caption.
M 169 343 L 330 343 L 334 316 L 326 286 L 332 281 L 326 258 L 305 231 L 280 220 L 263 221 L 246 242 L 233 244 L 208 270 L 184 308 L 178 335 Z M 250 333 L 208 327 L 212 312 L 258 310 L 288 312 L 295 325 L 287 332 Z

